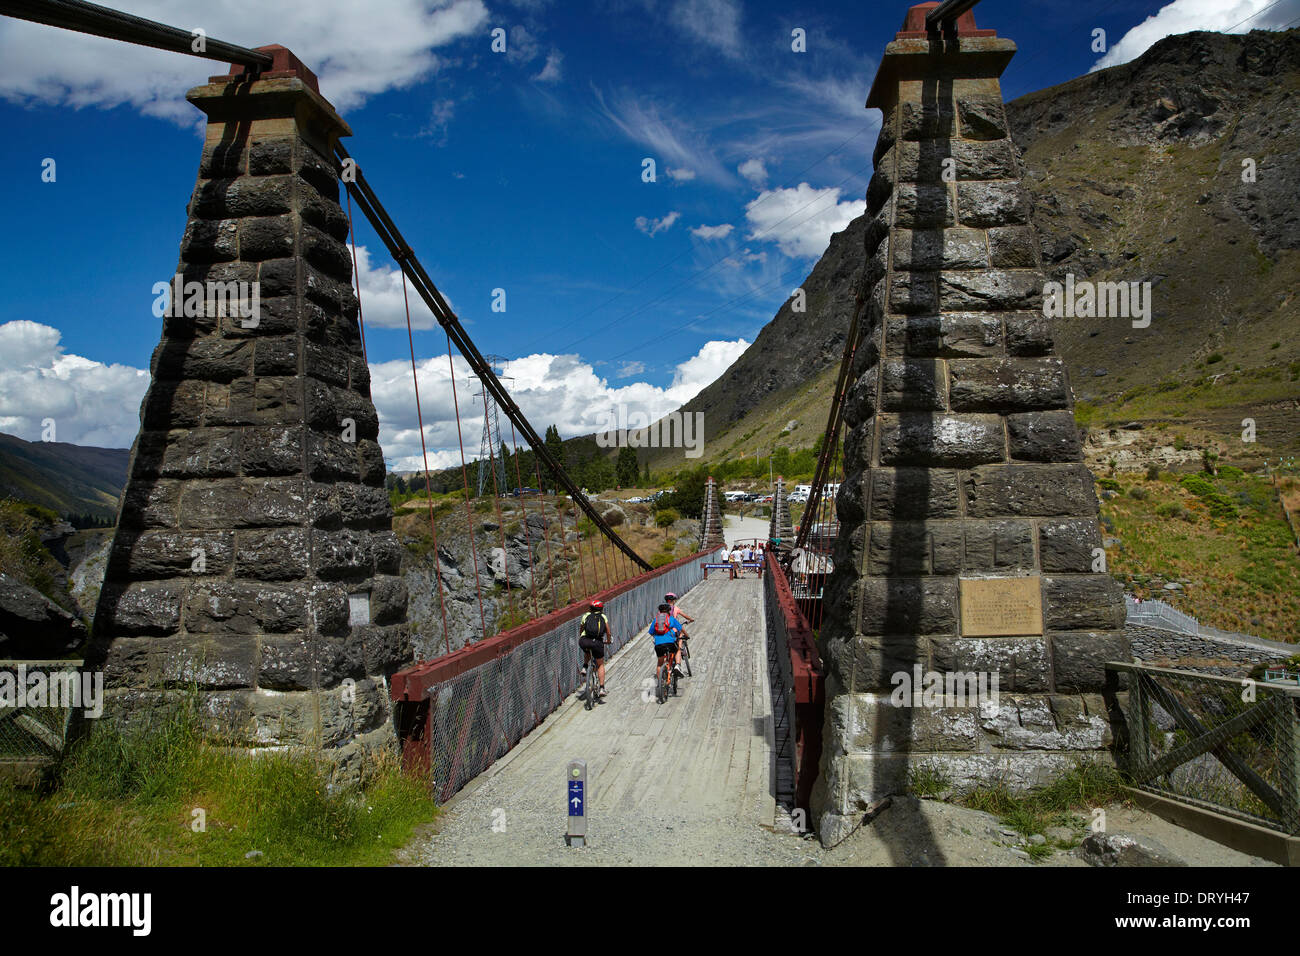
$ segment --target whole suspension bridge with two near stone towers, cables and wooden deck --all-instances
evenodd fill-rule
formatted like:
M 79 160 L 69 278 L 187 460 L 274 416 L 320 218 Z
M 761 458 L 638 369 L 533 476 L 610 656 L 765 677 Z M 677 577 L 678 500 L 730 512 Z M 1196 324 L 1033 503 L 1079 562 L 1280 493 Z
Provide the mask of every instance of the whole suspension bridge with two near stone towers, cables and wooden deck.
M 1092 480 L 1035 312 L 1041 263 L 998 87 L 1015 44 L 976 29 L 974 7 L 919 4 L 885 48 L 867 98 L 884 124 L 866 267 L 811 492 L 796 525 L 777 479 L 762 574 L 707 580 L 724 545 L 715 484 L 699 550 L 651 567 L 472 341 L 367 177 L 364 151 L 343 147 L 350 129 L 311 69 L 280 46 L 207 38 L 198 55 L 230 68 L 188 94 L 208 127 L 178 274 L 256 282 L 261 308 L 252 321 L 238 310 L 164 317 L 87 654 L 112 711 L 140 719 L 196 687 L 228 737 L 313 745 L 342 766 L 395 735 L 439 801 L 481 792 L 538 840 L 555 836 L 541 821 L 562 818 L 560 774 L 578 756 L 592 814 L 615 829 L 620 814 L 680 801 L 767 827 L 802 819 L 833 845 L 918 766 L 941 766 L 961 788 L 1032 787 L 1108 754 L 1132 705 L 1106 670 L 1130 659 L 1124 609 L 1091 567 Z M 78 0 L 5 0 L 0 13 L 195 55 L 190 31 Z M 452 648 L 432 494 L 441 633 L 408 624 L 354 206 L 402 274 L 426 485 L 412 290 L 443 333 L 472 555 L 458 574 L 473 576 L 478 623 L 465 646 Z M 456 355 L 482 389 L 474 479 Z M 512 476 L 495 460 L 498 410 Z M 508 567 L 511 479 L 538 489 L 512 502 L 526 575 Z M 490 497 L 494 523 L 476 519 L 476 497 Z M 504 555 L 503 593 L 480 535 Z M 645 627 L 668 592 L 697 619 L 698 672 L 658 704 L 642 693 Z M 576 623 L 594 600 L 611 622 L 611 696 L 581 711 Z M 494 601 L 526 619 L 498 632 Z M 442 653 L 413 661 L 416 636 Z M 992 674 L 1002 697 L 890 704 L 914 669 Z M 1294 786 L 1251 773 L 1278 826 L 1292 827 Z

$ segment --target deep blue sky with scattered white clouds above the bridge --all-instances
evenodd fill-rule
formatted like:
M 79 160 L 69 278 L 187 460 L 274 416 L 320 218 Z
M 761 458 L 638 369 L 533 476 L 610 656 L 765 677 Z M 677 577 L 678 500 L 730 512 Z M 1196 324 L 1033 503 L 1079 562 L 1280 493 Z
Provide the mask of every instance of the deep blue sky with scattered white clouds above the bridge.
M 985 0 L 1020 48 L 1008 99 L 1169 31 L 1279 27 L 1300 0 Z M 654 416 L 712 381 L 862 209 L 863 101 L 902 3 L 320 0 L 127 3 L 212 36 L 282 43 L 352 126 L 348 150 L 478 347 L 510 359 L 542 431 Z M 270 8 L 270 9 L 268 9 Z M 1157 16 L 1158 14 L 1158 16 Z M 1154 20 L 1148 20 L 1153 18 Z M 507 52 L 490 49 L 507 31 Z M 792 51 L 792 30 L 807 52 Z M 129 445 L 220 64 L 0 18 L 0 431 Z M 55 159 L 56 181 L 42 182 Z M 654 159 L 656 182 L 642 181 Z M 400 284 L 364 224 L 363 308 L 390 459 L 419 446 Z M 507 310 L 490 310 L 504 289 Z M 428 437 L 451 453 L 446 341 L 417 313 Z M 441 364 L 438 362 L 441 359 Z M 472 392 L 458 363 L 462 401 Z M 404 369 L 404 372 L 403 372 Z M 404 376 L 404 377 L 403 377 Z M 428 384 L 425 377 L 428 376 Z M 478 432 L 467 445 L 477 450 Z

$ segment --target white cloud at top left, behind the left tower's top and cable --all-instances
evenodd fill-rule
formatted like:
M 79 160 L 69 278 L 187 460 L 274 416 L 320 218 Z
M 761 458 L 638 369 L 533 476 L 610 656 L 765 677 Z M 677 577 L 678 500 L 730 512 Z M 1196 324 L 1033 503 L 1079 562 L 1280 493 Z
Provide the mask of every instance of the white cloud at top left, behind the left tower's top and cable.
M 482 0 L 135 0 L 131 13 L 243 46 L 273 38 L 316 73 L 341 111 L 437 72 L 434 51 L 473 36 L 488 20 Z M 129 104 L 187 125 L 199 114 L 186 90 L 224 72 L 217 61 L 0 18 L 0 98 L 10 101 Z

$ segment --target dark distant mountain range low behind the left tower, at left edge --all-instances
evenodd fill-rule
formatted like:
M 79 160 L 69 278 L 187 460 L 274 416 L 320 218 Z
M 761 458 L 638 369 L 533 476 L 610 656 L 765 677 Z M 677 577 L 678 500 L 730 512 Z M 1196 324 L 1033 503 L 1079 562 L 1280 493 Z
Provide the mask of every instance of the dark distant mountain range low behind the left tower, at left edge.
M 0 432 L 0 497 L 44 505 L 61 515 L 116 520 L 130 455 L 130 449 L 23 441 Z

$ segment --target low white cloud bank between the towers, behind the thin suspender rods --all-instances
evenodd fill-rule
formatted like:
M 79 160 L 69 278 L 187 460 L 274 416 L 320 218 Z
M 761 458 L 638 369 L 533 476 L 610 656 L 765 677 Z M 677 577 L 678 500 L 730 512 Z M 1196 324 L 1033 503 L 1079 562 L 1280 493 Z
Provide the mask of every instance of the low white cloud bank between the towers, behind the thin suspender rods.
M 627 406 L 628 411 L 644 414 L 650 421 L 662 418 L 712 384 L 748 347 L 749 342 L 745 339 L 706 342 L 696 355 L 677 365 L 667 388 L 644 381 L 612 386 L 578 355 L 549 352 L 525 355 L 511 360 L 504 371 L 514 377 L 510 382 L 511 398 L 523 410 L 533 429 L 541 434 L 547 425 L 555 424 L 560 434 L 569 438 L 603 428 L 607 410 L 615 406 Z M 624 369 L 633 369 L 641 364 L 627 363 L 620 368 L 618 377 L 624 377 L 621 375 Z M 468 462 L 478 455 L 482 405 L 473 398 L 478 382 L 469 365 L 459 355 L 455 358 L 455 365 Z M 459 464 L 460 449 L 446 356 L 426 359 L 417 363 L 417 367 L 429 467 Z M 629 375 L 640 375 L 642 371 L 645 369 Z M 370 392 L 380 412 L 380 444 L 384 446 L 385 458 L 398 471 L 421 468 L 420 427 L 416 419 L 415 390 L 411 385 L 411 363 L 394 360 L 372 364 Z M 510 424 L 504 419 L 502 431 L 508 436 Z M 523 438 L 520 442 L 523 444 Z

